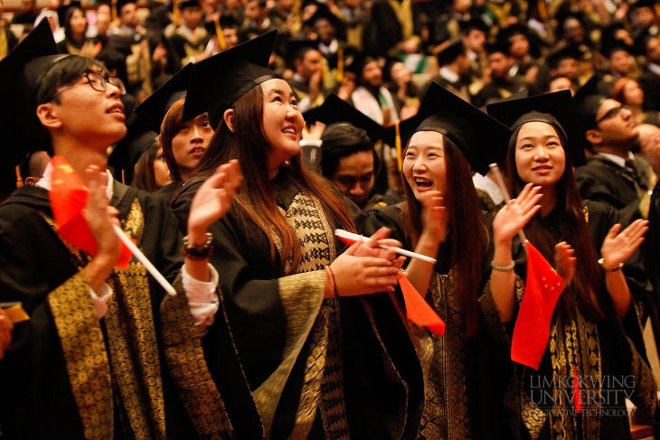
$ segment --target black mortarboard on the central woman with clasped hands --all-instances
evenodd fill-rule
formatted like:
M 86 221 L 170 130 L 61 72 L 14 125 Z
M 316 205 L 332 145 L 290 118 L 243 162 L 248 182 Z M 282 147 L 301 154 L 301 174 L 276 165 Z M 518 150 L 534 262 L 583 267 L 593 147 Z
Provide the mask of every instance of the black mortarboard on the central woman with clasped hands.
M 279 78 L 268 68 L 277 35 L 277 31 L 265 33 L 194 64 L 184 120 L 208 112 L 215 129 L 238 98 L 262 82 Z

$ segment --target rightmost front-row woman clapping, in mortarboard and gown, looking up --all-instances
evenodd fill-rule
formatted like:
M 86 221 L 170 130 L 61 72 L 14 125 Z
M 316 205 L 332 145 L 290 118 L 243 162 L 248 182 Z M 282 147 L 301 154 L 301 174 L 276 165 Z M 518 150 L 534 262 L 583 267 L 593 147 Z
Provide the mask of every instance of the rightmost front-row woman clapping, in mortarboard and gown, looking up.
M 515 386 L 507 399 L 514 402 L 508 407 L 514 429 L 541 439 L 629 438 L 625 411 L 611 411 L 623 407 L 614 396 L 634 395 L 637 407 L 650 414 L 656 405 L 639 325 L 646 321 L 648 293 L 636 248 L 646 222 L 637 220 L 619 233 L 615 211 L 580 200 L 573 165 L 585 159 L 570 91 L 487 109 L 513 129 L 505 171 L 508 191 L 519 194 L 495 217 L 496 270 L 480 299 L 486 325 L 506 351 L 513 327 L 504 324 L 523 313 L 519 304 L 525 295 L 534 295 L 524 284 L 542 281 L 528 278 L 533 272 L 525 270 L 519 230 L 525 229 L 563 281 L 559 301 L 545 311 L 552 314 L 550 329 L 543 329 L 550 339 L 538 368 L 512 371 Z M 610 382 L 624 377 L 635 379 L 621 386 Z M 560 395 L 566 398 L 554 398 Z M 592 396 L 603 397 L 597 413 L 589 410 Z

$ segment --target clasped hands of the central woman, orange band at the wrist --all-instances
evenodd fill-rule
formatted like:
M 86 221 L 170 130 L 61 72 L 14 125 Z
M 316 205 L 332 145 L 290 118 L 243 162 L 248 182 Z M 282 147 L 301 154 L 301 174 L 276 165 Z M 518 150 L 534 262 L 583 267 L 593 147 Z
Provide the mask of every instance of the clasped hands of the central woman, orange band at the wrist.
M 337 295 L 354 296 L 394 290 L 399 267 L 387 258 L 356 257 L 355 252 L 363 246 L 363 242 L 354 243 L 330 265 Z

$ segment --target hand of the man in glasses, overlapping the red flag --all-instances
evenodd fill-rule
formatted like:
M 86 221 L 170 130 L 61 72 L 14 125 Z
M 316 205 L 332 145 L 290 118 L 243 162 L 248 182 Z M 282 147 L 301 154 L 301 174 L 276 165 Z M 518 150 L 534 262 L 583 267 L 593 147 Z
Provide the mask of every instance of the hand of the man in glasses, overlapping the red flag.
M 119 226 L 119 211 L 110 206 L 106 194 L 108 174 L 101 172 L 98 166 L 91 165 L 85 170 L 85 178 L 90 192 L 82 216 L 96 241 L 97 256 L 105 257 L 113 267 L 121 254 L 121 246 L 113 229 L 114 225 Z

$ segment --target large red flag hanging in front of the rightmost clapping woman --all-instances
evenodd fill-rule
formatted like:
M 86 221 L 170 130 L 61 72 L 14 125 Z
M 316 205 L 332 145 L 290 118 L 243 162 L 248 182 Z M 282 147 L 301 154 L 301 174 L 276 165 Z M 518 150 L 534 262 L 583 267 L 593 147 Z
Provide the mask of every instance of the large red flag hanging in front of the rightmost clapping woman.
M 534 370 L 548 346 L 552 311 L 561 294 L 561 276 L 557 275 L 541 253 L 527 242 L 527 280 L 511 343 L 511 359 Z

